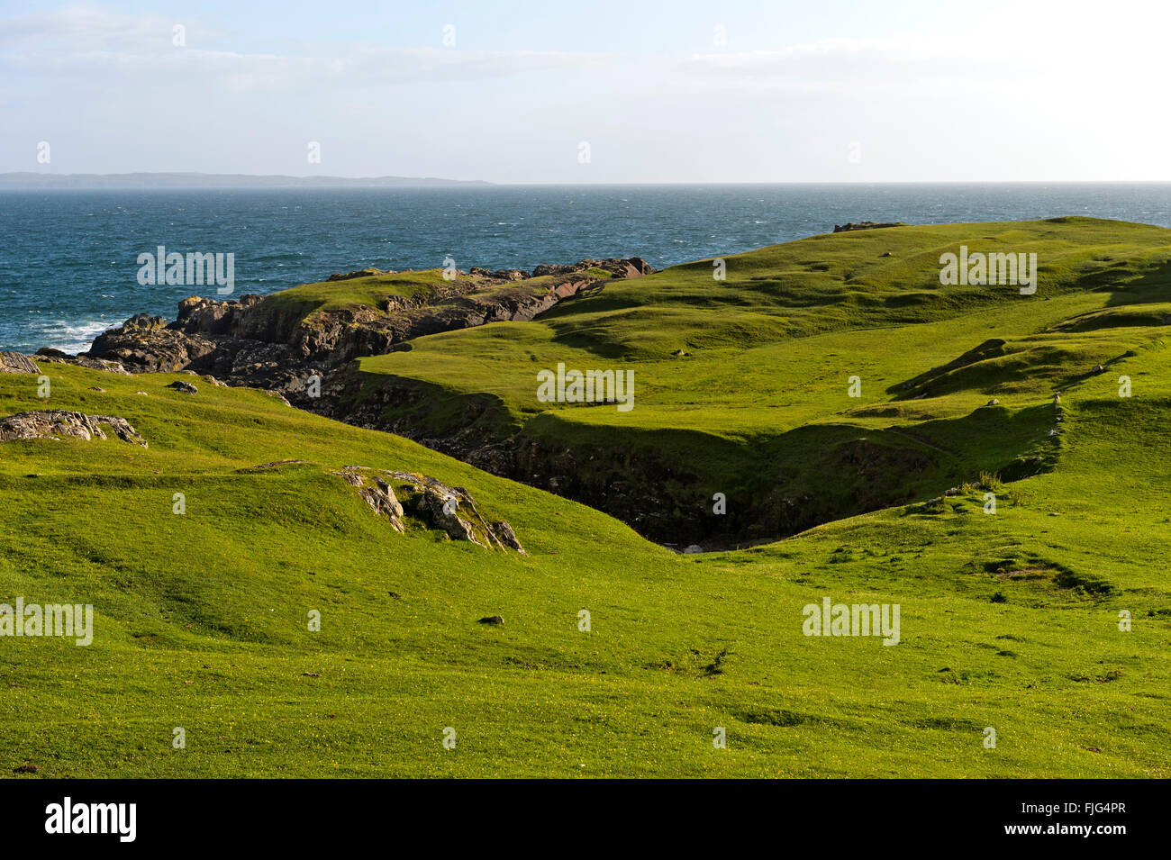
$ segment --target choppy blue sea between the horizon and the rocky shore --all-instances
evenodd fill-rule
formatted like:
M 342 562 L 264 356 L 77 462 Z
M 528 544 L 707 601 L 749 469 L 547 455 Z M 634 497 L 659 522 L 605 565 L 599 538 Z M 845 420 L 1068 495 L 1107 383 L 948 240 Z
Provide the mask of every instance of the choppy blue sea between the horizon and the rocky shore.
M 1091 215 L 1171 227 L 1171 183 L 486 186 L 0 192 L 0 349 L 83 351 L 214 287 L 138 283 L 137 259 L 235 255 L 234 296 L 365 267 L 532 269 L 641 256 L 662 268 L 847 221 Z

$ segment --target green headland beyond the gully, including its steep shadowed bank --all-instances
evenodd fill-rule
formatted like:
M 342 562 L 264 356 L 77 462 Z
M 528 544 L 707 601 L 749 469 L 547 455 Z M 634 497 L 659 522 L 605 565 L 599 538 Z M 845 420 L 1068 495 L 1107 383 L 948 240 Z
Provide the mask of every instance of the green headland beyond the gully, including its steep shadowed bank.
M 960 245 L 1038 254 L 1039 291 L 940 285 Z M 1146 349 L 1171 312 L 1171 233 L 1091 219 L 840 233 L 724 262 L 724 281 L 700 261 L 363 358 L 335 414 L 659 542 L 737 545 L 1035 472 L 1053 393 Z M 632 370 L 636 407 L 539 401 L 559 363 Z

